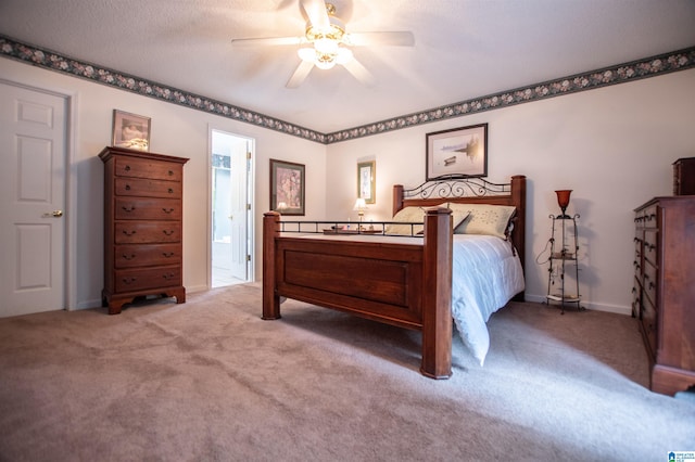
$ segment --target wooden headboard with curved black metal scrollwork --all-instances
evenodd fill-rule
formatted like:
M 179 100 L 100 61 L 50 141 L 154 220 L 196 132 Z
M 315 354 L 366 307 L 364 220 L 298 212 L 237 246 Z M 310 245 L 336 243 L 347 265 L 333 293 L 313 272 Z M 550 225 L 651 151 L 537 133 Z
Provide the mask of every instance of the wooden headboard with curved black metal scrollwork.
M 393 185 L 393 215 L 404 207 L 431 207 L 445 202 L 515 206 L 511 242 L 521 266 L 526 266 L 526 176 L 515 175 L 508 183 L 491 183 L 482 178 L 441 178 L 407 190 L 403 184 Z

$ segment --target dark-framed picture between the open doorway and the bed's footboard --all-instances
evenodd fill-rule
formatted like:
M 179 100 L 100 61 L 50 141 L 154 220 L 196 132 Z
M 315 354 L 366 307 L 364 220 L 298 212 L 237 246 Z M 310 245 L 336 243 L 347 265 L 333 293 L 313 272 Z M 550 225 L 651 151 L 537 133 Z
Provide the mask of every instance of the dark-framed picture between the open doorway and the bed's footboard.
M 270 159 L 270 210 L 305 215 L 305 166 Z

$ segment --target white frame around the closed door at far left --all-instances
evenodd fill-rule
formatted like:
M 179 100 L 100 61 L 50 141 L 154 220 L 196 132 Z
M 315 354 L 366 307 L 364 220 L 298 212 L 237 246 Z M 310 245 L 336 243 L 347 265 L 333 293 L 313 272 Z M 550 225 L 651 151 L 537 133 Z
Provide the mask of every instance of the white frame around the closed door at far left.
M 77 181 L 76 181 L 76 163 L 75 163 L 75 140 L 77 139 L 77 93 L 63 88 L 47 88 L 39 84 L 25 84 L 10 78 L 0 77 L 0 82 L 11 87 L 17 87 L 38 93 L 46 93 L 52 97 L 62 98 L 65 101 L 65 236 L 63 242 L 63 268 L 65 279 L 64 299 L 62 300 L 63 309 L 72 311 L 81 308 L 91 308 L 89 306 L 77 306 Z

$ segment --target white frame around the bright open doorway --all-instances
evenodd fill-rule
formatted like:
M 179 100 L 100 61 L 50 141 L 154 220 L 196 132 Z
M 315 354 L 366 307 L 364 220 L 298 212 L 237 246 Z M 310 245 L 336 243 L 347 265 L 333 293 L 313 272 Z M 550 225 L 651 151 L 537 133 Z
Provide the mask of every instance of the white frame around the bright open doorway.
M 212 188 L 213 188 L 213 131 L 222 131 L 225 133 L 229 133 L 231 136 L 238 137 L 238 138 L 243 138 L 245 140 L 248 140 L 249 143 L 251 143 L 251 158 L 248 161 L 249 162 L 249 171 L 247 174 L 247 189 L 249 191 L 249 196 L 248 196 L 248 201 L 249 204 L 251 205 L 251 209 L 248 210 L 249 211 L 249 216 L 247 217 L 247 241 L 248 241 L 248 248 L 247 252 L 249 252 L 249 254 L 251 255 L 251 259 L 249 260 L 249 267 L 248 267 L 248 277 L 247 280 L 248 282 L 254 282 L 255 281 L 255 222 L 254 222 L 254 217 L 255 217 L 255 184 L 254 184 L 254 179 L 255 179 L 255 162 L 254 162 L 254 157 L 255 157 L 255 138 L 253 137 L 249 137 L 247 134 L 240 134 L 233 131 L 230 131 L 226 128 L 222 128 L 222 127 L 217 127 L 214 126 L 212 124 L 207 125 L 207 239 L 206 239 L 206 246 L 207 246 L 207 277 L 206 277 L 206 283 L 207 283 L 207 288 L 212 288 L 213 285 L 213 268 L 212 268 L 212 261 L 213 261 L 213 243 L 212 243 L 212 235 L 213 235 L 213 224 L 212 224 L 212 207 L 213 207 L 213 195 L 212 195 Z

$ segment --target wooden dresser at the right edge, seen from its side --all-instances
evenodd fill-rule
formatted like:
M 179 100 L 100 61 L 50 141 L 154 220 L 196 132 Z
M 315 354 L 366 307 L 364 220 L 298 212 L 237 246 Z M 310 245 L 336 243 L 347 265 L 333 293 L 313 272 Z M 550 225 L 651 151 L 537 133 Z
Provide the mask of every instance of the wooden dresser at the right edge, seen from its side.
M 695 385 L 695 196 L 655 197 L 635 208 L 633 316 L 653 392 Z

